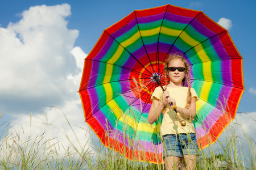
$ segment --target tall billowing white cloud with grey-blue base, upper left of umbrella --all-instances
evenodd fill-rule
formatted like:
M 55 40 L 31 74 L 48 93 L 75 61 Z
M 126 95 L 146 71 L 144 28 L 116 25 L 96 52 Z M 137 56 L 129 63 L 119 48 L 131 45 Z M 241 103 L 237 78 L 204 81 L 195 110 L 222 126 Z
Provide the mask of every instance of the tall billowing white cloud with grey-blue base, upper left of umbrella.
M 79 31 L 67 28 L 69 15 L 68 4 L 34 6 L 0 28 L 1 112 L 37 112 L 75 99 L 68 76 L 81 73 L 71 53 Z

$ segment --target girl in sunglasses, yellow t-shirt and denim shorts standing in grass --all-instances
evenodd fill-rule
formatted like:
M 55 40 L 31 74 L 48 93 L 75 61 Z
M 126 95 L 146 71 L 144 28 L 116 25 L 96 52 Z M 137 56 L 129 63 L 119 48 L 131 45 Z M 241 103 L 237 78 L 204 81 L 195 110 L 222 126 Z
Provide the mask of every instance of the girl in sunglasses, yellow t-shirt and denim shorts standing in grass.
M 192 120 L 196 115 L 196 92 L 189 84 L 189 66 L 179 54 L 171 54 L 164 66 L 166 73 L 166 91 L 157 87 L 151 96 L 152 105 L 148 113 L 148 122 L 153 124 L 160 113 L 163 113 L 162 125 L 160 126 L 164 140 L 164 165 L 166 169 L 195 169 L 197 143 L 196 130 Z M 185 86 L 187 75 L 188 87 Z M 167 77 L 170 83 L 167 84 Z M 183 86 L 181 86 L 181 83 Z M 176 113 L 167 108 L 167 103 L 177 106 L 177 112 L 181 113 L 186 121 L 181 126 Z

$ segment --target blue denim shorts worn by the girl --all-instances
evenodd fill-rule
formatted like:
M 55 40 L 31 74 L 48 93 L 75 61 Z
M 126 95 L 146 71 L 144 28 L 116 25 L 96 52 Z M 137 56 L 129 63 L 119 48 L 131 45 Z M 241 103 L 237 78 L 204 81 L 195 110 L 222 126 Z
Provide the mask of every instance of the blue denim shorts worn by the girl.
M 167 134 L 163 135 L 163 157 L 197 155 L 198 146 L 196 134 Z

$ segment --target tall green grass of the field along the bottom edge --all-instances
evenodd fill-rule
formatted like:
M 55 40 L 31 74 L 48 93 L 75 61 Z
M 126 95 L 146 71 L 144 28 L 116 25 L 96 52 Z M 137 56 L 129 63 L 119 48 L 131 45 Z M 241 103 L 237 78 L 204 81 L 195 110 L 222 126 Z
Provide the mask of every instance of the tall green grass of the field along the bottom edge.
M 74 144 L 71 137 L 64 134 L 68 145 L 56 138 L 48 138 L 46 131 L 36 137 L 23 137 L 16 130 L 9 130 L 10 122 L 2 122 L 0 143 L 1 169 L 164 169 L 163 164 L 133 162 L 99 144 L 95 135 L 83 129 L 89 135 L 88 141 Z M 67 125 L 73 130 L 67 120 Z M 233 127 L 226 130 L 225 140 L 217 141 L 213 146 L 200 151 L 197 156 L 197 169 L 255 169 L 255 139 L 250 135 L 237 136 Z M 73 133 L 75 131 L 73 130 Z M 246 139 L 246 140 L 244 140 Z M 248 148 L 247 148 L 248 147 Z

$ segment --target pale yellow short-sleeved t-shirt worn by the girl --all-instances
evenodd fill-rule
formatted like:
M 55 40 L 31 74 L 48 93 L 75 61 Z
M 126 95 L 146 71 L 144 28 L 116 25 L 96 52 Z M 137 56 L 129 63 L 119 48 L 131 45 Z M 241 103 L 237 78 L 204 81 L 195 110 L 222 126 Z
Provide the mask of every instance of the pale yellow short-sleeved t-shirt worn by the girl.
M 175 99 L 177 107 L 185 108 L 185 105 L 187 104 L 188 87 L 167 87 L 167 91 L 169 92 L 170 97 Z M 151 96 L 151 100 L 154 99 L 153 97 L 156 97 L 161 101 L 162 94 L 162 88 L 156 87 L 155 91 Z M 198 100 L 196 91 L 193 88 L 191 88 L 191 96 L 195 97 L 196 101 Z M 176 117 L 175 111 L 171 111 L 170 109 L 168 109 L 168 107 L 166 107 L 166 109 L 162 111 L 162 114 L 163 120 L 162 125 L 160 126 L 162 135 L 177 133 L 196 133 L 193 122 L 192 120 L 189 120 L 189 118 L 184 118 L 186 121 L 186 125 L 181 126 L 178 118 Z

